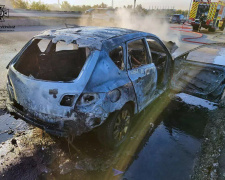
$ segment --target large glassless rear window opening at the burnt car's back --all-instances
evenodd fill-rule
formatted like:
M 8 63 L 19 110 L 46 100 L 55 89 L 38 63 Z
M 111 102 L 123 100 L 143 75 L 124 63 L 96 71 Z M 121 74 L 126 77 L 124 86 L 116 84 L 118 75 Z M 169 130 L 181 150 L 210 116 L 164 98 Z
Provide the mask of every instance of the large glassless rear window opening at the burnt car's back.
M 79 48 L 77 44 L 35 39 L 14 67 L 20 73 L 35 79 L 71 81 L 78 77 L 89 54 L 89 48 Z

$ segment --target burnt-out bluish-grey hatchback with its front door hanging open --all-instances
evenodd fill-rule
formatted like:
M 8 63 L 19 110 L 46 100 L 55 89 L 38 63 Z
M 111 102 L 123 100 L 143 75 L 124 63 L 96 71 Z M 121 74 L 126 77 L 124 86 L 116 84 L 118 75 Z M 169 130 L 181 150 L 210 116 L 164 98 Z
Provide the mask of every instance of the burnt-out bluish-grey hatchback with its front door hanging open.
M 118 147 L 133 115 L 171 84 L 176 91 L 187 87 L 197 96 L 221 96 L 225 68 L 189 63 L 186 57 L 174 63 L 157 36 L 140 31 L 99 27 L 45 31 L 32 38 L 7 67 L 7 109 L 49 134 L 79 136 L 95 129 L 103 145 Z M 188 78 L 193 69 L 200 76 L 183 82 L 180 76 Z M 205 72 L 219 81 L 201 81 Z M 202 87 L 197 87 L 198 81 Z

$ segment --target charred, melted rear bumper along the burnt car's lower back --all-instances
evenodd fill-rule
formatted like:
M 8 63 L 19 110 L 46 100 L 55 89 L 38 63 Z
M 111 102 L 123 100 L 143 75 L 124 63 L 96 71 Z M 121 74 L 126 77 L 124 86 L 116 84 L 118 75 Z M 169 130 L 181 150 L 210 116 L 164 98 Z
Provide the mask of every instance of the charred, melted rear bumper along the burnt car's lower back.
M 9 113 L 15 117 L 23 119 L 28 124 L 39 127 L 47 133 L 59 137 L 68 137 L 69 135 L 80 136 L 103 123 L 100 117 L 79 111 L 76 111 L 71 118 L 53 117 L 52 115 L 30 112 L 10 99 L 7 100 L 6 107 Z M 34 114 L 36 114 L 36 116 Z M 37 114 L 39 116 L 37 116 Z M 41 117 L 45 117 L 45 120 Z M 106 119 L 106 117 L 104 119 Z

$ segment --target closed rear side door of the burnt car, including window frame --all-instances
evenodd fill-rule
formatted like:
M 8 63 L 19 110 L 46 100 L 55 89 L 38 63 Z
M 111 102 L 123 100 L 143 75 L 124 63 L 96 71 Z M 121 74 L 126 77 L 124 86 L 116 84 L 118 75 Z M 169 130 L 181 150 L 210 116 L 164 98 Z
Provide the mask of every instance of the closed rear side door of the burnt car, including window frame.
M 138 110 L 141 111 L 153 99 L 157 83 L 156 67 L 145 38 L 128 41 L 126 50 L 128 76 L 136 93 Z

